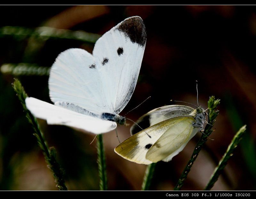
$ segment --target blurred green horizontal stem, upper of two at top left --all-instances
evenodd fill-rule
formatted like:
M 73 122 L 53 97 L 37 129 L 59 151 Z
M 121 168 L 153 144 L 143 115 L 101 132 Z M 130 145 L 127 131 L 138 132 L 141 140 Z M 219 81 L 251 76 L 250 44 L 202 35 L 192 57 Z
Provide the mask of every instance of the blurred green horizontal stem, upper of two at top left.
M 1 27 L 0 37 L 3 36 L 12 36 L 19 40 L 34 36 L 42 40 L 47 40 L 49 38 L 73 39 L 89 43 L 95 43 L 100 38 L 99 34 L 87 33 L 85 31 L 72 31 L 52 27 L 37 27 L 35 29 L 31 29 L 16 26 Z

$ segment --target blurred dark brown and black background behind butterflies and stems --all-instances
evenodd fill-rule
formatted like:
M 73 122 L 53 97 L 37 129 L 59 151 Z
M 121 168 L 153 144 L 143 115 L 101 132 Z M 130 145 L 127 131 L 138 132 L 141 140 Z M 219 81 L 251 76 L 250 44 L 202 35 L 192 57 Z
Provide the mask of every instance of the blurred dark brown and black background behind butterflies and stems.
M 256 7 L 255 6 L 0 6 L 0 27 L 53 27 L 104 34 L 123 19 L 139 15 L 147 29 L 147 44 L 133 96 L 121 115 L 133 120 L 170 100 L 207 107 L 214 95 L 220 114 L 205 148 L 200 152 L 183 190 L 202 190 L 236 131 L 247 133 L 212 190 L 255 190 Z M 74 39 L 22 37 L 0 34 L 0 65 L 31 63 L 50 67 L 68 48 L 92 52 L 93 43 Z M 2 71 L 3 72 L 3 71 Z M 44 156 L 32 135 L 12 89 L 17 77 L 29 96 L 50 102 L 48 76 L 0 73 L 0 189 L 57 190 Z M 182 104 L 182 103 L 181 103 Z M 95 142 L 66 126 L 39 120 L 45 138 L 57 149 L 69 190 L 98 190 Z M 121 141 L 128 127 L 118 127 Z M 200 137 L 169 163 L 159 162 L 151 190 L 172 190 Z M 140 190 L 146 166 L 124 160 L 114 148 L 115 132 L 104 134 L 110 190 Z

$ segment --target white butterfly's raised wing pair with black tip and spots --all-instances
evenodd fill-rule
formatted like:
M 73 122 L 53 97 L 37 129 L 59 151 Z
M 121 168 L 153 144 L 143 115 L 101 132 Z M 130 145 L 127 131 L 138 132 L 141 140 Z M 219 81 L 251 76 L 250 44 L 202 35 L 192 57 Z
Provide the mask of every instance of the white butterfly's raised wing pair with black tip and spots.
M 49 78 L 52 102 L 73 103 L 95 114 L 118 114 L 135 89 L 145 45 L 142 19 L 130 17 L 95 43 L 93 55 L 82 49 L 60 53 Z

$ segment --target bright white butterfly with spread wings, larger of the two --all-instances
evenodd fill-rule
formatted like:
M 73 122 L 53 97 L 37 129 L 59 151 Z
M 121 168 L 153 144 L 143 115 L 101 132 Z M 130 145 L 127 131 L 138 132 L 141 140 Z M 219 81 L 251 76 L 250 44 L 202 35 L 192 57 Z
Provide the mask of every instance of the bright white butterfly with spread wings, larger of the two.
M 123 125 L 125 118 L 118 114 L 135 89 L 145 45 L 145 25 L 134 16 L 103 34 L 92 54 L 82 49 L 60 53 L 49 77 L 54 105 L 28 97 L 28 110 L 48 124 L 94 134 Z

